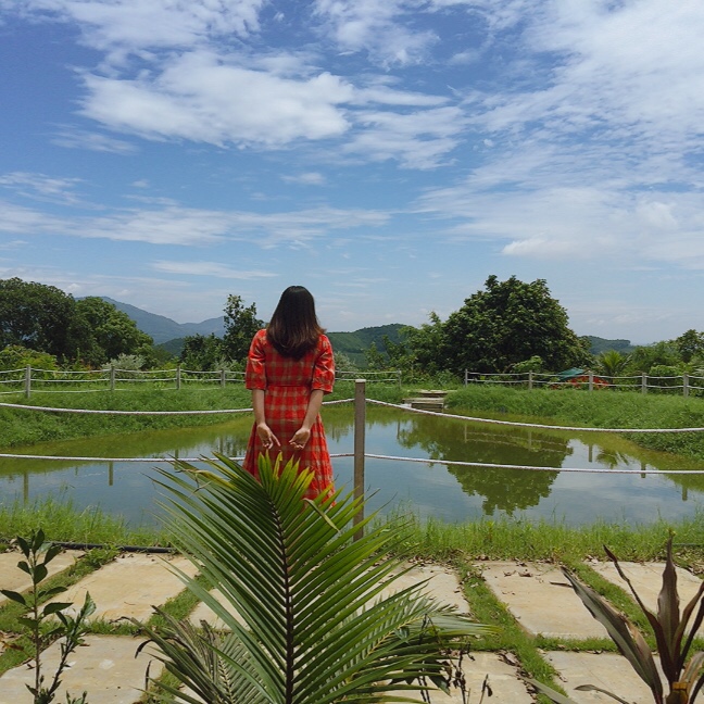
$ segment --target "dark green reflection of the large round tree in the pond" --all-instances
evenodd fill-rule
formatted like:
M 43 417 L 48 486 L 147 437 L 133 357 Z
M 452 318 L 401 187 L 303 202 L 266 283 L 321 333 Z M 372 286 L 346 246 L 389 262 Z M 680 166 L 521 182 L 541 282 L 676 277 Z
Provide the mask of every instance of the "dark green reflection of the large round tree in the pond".
M 423 448 L 428 456 L 444 461 L 561 467 L 571 454 L 568 440 L 529 429 L 450 422 L 430 416 L 413 416 L 399 431 L 399 443 Z M 449 465 L 462 490 L 485 496 L 485 514 L 496 511 L 513 514 L 550 495 L 558 472 L 499 469 Z

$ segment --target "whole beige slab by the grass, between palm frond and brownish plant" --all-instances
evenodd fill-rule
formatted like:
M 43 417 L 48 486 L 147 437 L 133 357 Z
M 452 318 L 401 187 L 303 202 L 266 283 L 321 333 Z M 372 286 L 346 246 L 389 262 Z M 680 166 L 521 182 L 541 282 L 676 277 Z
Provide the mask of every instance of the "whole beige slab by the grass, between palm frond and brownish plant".
M 476 567 L 496 599 L 532 636 L 608 638 L 555 565 L 487 562 Z

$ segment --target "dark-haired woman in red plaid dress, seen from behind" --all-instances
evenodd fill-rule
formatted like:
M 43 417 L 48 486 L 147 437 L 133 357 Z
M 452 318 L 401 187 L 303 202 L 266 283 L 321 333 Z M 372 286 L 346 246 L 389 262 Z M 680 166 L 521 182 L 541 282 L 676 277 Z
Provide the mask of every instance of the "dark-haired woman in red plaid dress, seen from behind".
M 332 391 L 332 347 L 302 286 L 289 286 L 264 330 L 254 336 L 244 382 L 252 391 L 254 426 L 243 467 L 257 476 L 260 453 L 280 452 L 314 473 L 307 496 L 334 491 L 332 465 L 319 416 L 323 395 Z

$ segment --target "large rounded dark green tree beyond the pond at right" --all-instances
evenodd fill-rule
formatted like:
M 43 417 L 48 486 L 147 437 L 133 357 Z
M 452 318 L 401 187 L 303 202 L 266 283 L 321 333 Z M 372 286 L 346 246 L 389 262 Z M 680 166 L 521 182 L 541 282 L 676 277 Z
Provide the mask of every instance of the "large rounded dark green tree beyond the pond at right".
M 442 326 L 439 351 L 445 369 L 508 372 L 535 355 L 555 370 L 590 361 L 584 343 L 568 327 L 567 312 L 543 279 L 525 284 L 515 276 L 506 281 L 490 276 L 485 286 Z

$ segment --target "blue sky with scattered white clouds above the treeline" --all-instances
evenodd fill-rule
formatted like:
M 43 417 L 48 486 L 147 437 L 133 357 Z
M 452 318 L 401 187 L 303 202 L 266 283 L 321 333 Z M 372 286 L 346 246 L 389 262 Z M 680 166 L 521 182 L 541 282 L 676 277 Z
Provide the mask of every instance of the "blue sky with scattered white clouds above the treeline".
M 329 330 L 704 329 L 701 0 L 0 0 L 0 278 Z

